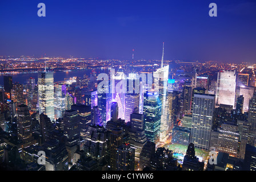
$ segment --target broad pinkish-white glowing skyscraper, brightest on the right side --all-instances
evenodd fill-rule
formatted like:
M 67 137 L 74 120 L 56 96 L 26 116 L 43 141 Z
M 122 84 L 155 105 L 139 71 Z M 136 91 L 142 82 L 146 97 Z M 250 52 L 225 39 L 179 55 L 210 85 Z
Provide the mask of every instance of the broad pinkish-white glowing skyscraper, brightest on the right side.
M 235 106 L 236 75 L 235 70 L 218 72 L 215 104 Z

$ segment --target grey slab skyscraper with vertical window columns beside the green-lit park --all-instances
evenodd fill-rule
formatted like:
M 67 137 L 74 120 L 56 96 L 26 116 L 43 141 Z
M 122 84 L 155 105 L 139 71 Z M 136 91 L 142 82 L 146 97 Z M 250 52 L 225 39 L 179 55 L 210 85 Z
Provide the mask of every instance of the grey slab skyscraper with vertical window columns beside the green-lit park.
M 214 99 L 214 95 L 194 94 L 190 142 L 203 150 L 209 150 Z

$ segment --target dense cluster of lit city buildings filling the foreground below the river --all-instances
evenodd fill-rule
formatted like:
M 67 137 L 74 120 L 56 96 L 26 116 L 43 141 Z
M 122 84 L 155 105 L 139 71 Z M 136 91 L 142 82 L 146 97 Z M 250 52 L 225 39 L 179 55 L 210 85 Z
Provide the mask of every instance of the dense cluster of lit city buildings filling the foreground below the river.
M 25 85 L 4 76 L 1 169 L 256 169 L 254 72 L 221 69 L 213 76 L 198 67 L 174 72 L 161 64 L 146 73 L 126 77 L 119 67 L 101 88 L 93 74 L 54 82 L 53 72 L 45 70 Z M 134 92 L 106 92 L 131 82 Z M 163 147 L 167 143 L 187 146 L 182 165 Z M 199 161 L 195 148 L 216 152 L 217 163 Z

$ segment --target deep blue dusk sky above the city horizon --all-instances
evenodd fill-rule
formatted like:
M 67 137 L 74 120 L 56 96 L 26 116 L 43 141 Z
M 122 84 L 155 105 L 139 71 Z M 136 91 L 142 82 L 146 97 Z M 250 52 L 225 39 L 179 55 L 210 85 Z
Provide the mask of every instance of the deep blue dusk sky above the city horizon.
M 0 55 L 255 63 L 255 34 L 254 0 L 0 1 Z

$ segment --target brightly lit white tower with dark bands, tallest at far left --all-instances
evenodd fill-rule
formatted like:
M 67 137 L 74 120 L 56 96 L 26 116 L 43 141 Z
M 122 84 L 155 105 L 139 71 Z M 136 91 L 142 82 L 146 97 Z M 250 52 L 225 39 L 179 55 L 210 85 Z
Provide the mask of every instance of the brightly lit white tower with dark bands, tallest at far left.
M 54 85 L 53 72 L 38 72 L 39 114 L 46 114 L 54 121 Z

